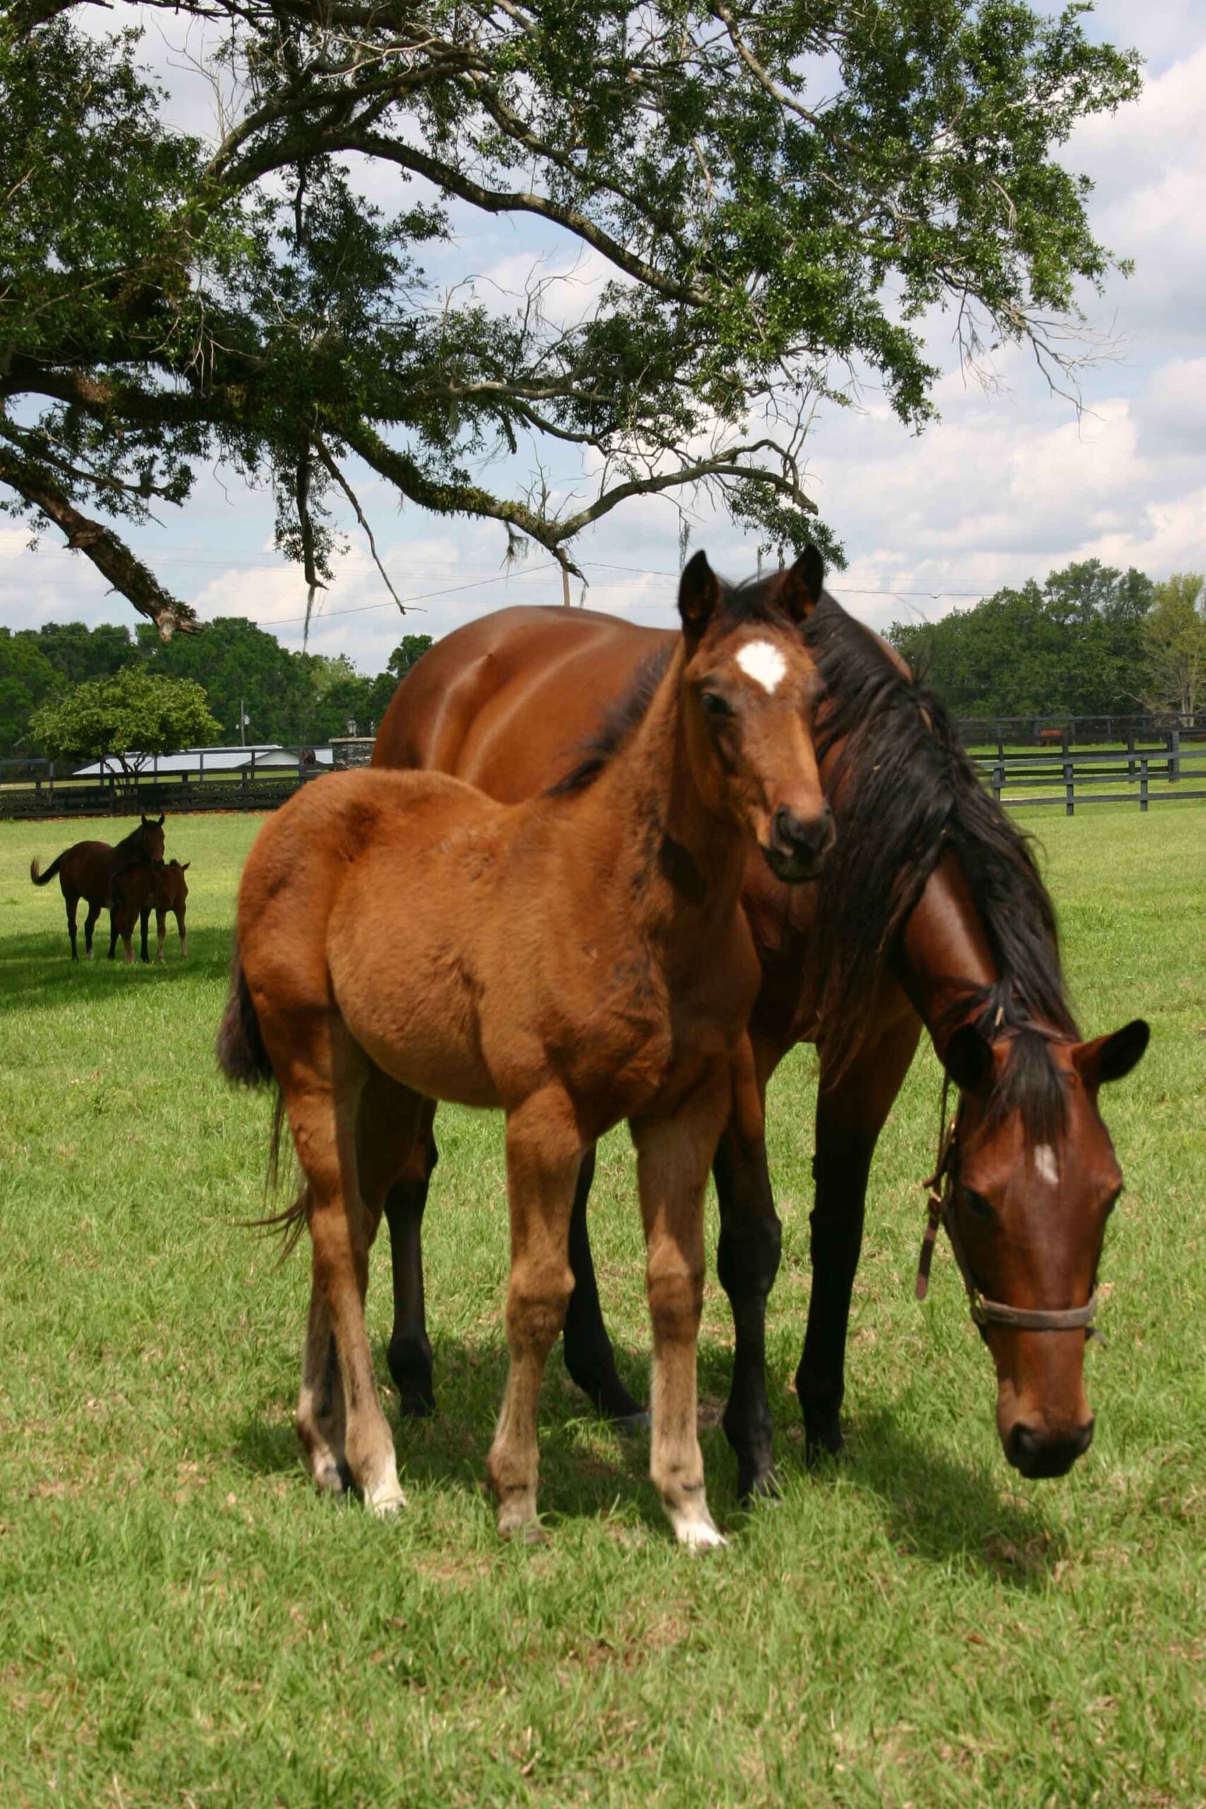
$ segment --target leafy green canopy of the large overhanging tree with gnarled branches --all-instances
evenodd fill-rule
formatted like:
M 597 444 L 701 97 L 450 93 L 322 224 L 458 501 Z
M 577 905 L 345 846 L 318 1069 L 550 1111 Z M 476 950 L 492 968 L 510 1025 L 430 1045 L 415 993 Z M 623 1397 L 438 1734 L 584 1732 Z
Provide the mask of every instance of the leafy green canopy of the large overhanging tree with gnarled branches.
M 1079 5 L 155 5 L 222 45 L 215 145 L 166 125 L 136 40 L 85 34 L 80 0 L 0 24 L 0 485 L 165 635 L 192 610 L 85 510 L 183 503 L 203 458 L 271 481 L 311 597 L 353 458 L 566 566 L 627 497 L 700 487 L 765 543 L 824 541 L 819 398 L 872 374 L 922 425 L 935 306 L 969 358 L 1025 342 L 1060 380 L 1078 284 L 1112 266 L 1058 156 L 1139 74 Z M 410 204 L 367 206 L 353 163 Z M 570 324 L 539 275 L 519 306 L 447 293 L 421 259 L 448 204 L 539 223 L 611 280 Z M 593 494 L 546 479 L 553 445 Z M 530 476 L 486 488 L 494 454 Z

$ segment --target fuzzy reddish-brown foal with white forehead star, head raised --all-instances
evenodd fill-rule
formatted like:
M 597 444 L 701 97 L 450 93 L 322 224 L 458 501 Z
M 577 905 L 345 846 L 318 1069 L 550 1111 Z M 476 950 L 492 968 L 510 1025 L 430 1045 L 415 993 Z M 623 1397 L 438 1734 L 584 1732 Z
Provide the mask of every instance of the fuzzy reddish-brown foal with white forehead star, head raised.
M 503 1107 L 510 1375 L 490 1451 L 503 1534 L 537 1527 L 537 1397 L 573 1288 L 582 1156 L 636 1145 L 653 1319 L 651 1474 L 676 1538 L 716 1545 L 696 1436 L 703 1190 L 758 959 L 740 894 L 832 841 L 799 622 L 819 561 L 730 590 L 698 554 L 682 635 L 638 662 L 604 740 L 526 803 L 432 772 L 307 785 L 260 830 L 219 1035 L 233 1080 L 275 1076 L 306 1176 L 313 1292 L 298 1431 L 315 1482 L 403 1501 L 365 1335 L 369 1248 L 425 1100 Z M 277 1120 L 280 1129 L 280 1116 Z

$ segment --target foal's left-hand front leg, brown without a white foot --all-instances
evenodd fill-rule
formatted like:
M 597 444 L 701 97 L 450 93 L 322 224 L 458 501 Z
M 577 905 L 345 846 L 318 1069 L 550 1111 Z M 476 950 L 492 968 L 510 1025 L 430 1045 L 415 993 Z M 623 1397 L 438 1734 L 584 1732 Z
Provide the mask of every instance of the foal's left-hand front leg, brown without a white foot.
M 506 1189 L 512 1210 L 512 1275 L 506 1290 L 506 1395 L 490 1445 L 490 1485 L 497 1529 L 508 1538 L 539 1538 L 535 1413 L 550 1350 L 566 1319 L 570 1212 L 582 1141 L 573 1105 L 546 1089 L 508 1114 Z

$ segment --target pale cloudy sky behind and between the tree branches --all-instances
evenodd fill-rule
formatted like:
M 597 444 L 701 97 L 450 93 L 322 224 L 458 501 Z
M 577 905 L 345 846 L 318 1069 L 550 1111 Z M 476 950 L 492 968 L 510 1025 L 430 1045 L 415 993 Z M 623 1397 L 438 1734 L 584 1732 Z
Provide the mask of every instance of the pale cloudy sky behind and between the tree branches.
M 98 13 L 98 25 L 112 29 L 123 13 L 137 7 Z M 1088 31 L 1134 43 L 1146 60 L 1141 101 L 1078 128 L 1063 154 L 1096 183 L 1098 237 L 1135 260 L 1128 280 L 1085 302 L 1114 351 L 1081 378 L 1078 416 L 1047 391 L 1029 353 L 998 360 L 993 393 L 966 380 L 951 324 L 938 317 L 931 331 L 944 369 L 938 423 L 909 436 L 873 393 L 857 411 L 821 412 L 810 436 L 810 485 L 850 559 L 832 588 L 875 626 L 942 615 L 1079 557 L 1137 564 L 1155 577 L 1206 568 L 1206 5 L 1101 0 Z M 146 58 L 170 80 L 179 118 L 212 132 L 212 98 L 183 67 L 186 49 L 181 20 L 148 20 Z M 387 206 L 398 201 L 389 181 L 372 183 Z M 441 279 L 472 273 L 506 295 L 523 291 L 533 260 L 544 257 L 544 273 L 564 279 L 551 304 L 570 315 L 604 275 L 598 262 L 532 224 L 465 224 L 441 259 Z M 416 599 L 414 613 L 398 617 L 353 532 L 353 554 L 311 628 L 315 651 L 347 653 L 376 671 L 405 631 L 439 635 L 508 602 L 561 601 L 561 575 L 539 550 L 506 570 L 501 528 L 412 507 L 400 512 L 396 494 L 371 481 L 362 501 L 396 590 Z M 56 534 L 38 554 L 25 541 L 20 526 L 0 519 L 4 622 L 134 620 Z M 694 519 L 691 543 L 732 577 L 754 564 L 754 543 L 721 519 Z M 166 512 L 163 526 L 139 532 L 136 545 L 203 617 L 250 615 L 300 646 L 300 573 L 271 552 L 269 499 L 248 494 L 233 474 L 204 474 L 186 508 Z M 671 620 L 678 570 L 671 503 L 624 505 L 577 541 L 575 557 L 593 608 Z

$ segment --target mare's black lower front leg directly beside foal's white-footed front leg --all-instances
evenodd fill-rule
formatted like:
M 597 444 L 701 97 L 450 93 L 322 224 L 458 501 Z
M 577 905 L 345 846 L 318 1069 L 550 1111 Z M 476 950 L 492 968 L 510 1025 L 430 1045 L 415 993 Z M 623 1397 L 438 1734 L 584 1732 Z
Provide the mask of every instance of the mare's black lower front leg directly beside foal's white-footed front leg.
M 720 1201 L 716 1274 L 729 1295 L 732 1330 L 732 1388 L 725 1406 L 725 1436 L 738 1458 L 741 1496 L 772 1494 L 774 1425 L 767 1400 L 767 1297 L 779 1274 L 783 1228 L 774 1208 L 767 1145 L 745 1141 L 727 1125 L 712 1163 Z

